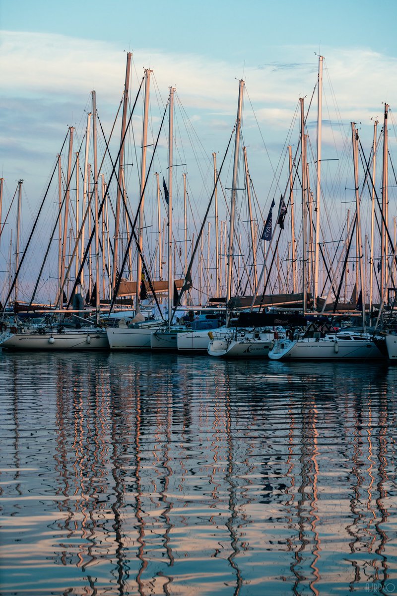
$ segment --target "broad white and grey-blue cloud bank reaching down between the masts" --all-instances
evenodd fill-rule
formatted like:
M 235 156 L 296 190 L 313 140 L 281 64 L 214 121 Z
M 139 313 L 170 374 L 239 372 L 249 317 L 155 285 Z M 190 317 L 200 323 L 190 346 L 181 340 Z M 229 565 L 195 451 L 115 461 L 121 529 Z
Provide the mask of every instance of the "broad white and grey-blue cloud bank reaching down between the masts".
M 293 145 L 294 153 L 298 146 L 300 97 L 304 97 L 306 110 L 311 105 L 307 124 L 311 145 L 309 159 L 311 165 L 314 162 L 318 61 L 314 50 L 311 45 L 279 46 L 274 48 L 277 61 L 255 56 L 255 63 L 247 61 L 244 67 L 243 142 L 248 147 L 250 175 L 262 207 L 266 197 L 273 192 L 271 187 L 274 189 L 278 185 L 277 191 L 274 191 L 278 195 L 279 189 L 287 184 L 286 172 L 280 170 L 286 168 L 286 144 Z M 361 122 L 360 135 L 370 147 L 373 135 L 371 118 L 380 119 L 382 126 L 382 101 L 391 101 L 397 95 L 397 60 L 364 47 L 324 47 L 323 53 L 326 56 L 323 167 L 333 172 L 340 167 L 340 172 L 350 175 L 350 123 L 353 120 Z M 135 100 L 145 68 L 154 70 L 150 117 L 153 138 L 157 135 L 167 103 L 168 88 L 170 85 L 176 87 L 176 138 L 180 147 L 176 148 L 175 154 L 180 163 L 187 163 L 189 195 L 193 203 L 195 197 L 200 197 L 196 201 L 199 209 L 207 200 L 206 184 L 212 184 L 213 179 L 208 172 L 202 172 L 205 157 L 208 168 L 212 167 L 213 151 L 218 153 L 218 164 L 221 163 L 235 124 L 238 81 L 242 76 L 240 66 L 237 67 L 232 58 L 217 60 L 199 54 L 164 52 L 149 46 L 137 48 L 133 52 L 130 101 Z M 90 92 L 93 89 L 96 91 L 101 124 L 105 134 L 110 134 L 124 89 L 126 53 L 116 44 L 106 41 L 4 31 L 1 32 L 0 69 L 0 166 L 12 193 L 14 181 L 19 178 L 25 180 L 24 188 L 30 206 L 29 225 L 25 226 L 28 229 L 68 126 L 76 128 L 77 144 L 83 138 L 87 111 L 92 109 Z M 137 173 L 136 163 L 139 163 L 142 98 L 138 107 L 133 118 L 132 145 L 126 154 L 126 163 L 135 163 L 132 169 L 134 176 Z M 186 133 L 183 126 L 188 129 Z M 189 145 L 196 138 L 201 144 L 199 151 Z M 114 159 L 120 139 L 120 114 L 113 139 Z M 103 139 L 101 143 L 103 150 Z M 165 172 L 165 132 L 159 147 L 161 159 L 156 160 L 154 167 L 158 172 Z M 186 155 L 182 155 L 183 151 L 177 153 L 177 150 L 186 150 Z M 343 151 L 348 164 L 345 170 L 342 170 L 340 160 Z M 199 172 L 195 172 L 195 159 L 200 162 Z M 64 156 L 62 163 L 66 163 Z M 231 170 L 230 164 L 226 163 L 224 172 L 228 170 Z M 110 173 L 109 163 L 105 164 L 104 171 Z M 133 181 L 133 175 L 126 177 Z M 311 179 L 314 180 L 313 175 Z M 227 183 L 224 186 L 228 188 Z M 346 187 L 351 187 L 351 184 L 346 182 Z M 136 197 L 136 188 L 132 184 L 131 200 Z M 53 203 L 56 200 L 55 193 Z M 43 224 L 40 229 L 43 229 L 44 238 L 48 225 Z M 4 246 L 7 243 L 4 242 Z

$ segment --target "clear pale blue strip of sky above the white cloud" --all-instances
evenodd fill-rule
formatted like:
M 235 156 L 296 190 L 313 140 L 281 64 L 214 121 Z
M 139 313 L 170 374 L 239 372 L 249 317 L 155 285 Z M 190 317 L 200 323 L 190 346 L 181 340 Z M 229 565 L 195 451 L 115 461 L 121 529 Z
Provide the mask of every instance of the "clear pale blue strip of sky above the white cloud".
M 395 52 L 394 2 L 368 0 L 152 0 L 1 2 L 1 29 L 109 41 L 131 51 L 192 52 L 211 60 L 277 60 L 278 48 L 307 45 Z M 236 64 L 236 66 L 238 66 Z M 238 76 L 238 75 L 237 75 Z

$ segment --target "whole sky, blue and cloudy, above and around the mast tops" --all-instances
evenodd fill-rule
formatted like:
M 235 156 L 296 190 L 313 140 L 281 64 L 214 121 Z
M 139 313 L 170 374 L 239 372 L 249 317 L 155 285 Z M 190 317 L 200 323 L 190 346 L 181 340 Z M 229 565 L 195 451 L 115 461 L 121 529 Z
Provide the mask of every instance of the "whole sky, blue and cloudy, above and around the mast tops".
M 373 120 L 382 123 L 385 102 L 392 113 L 397 92 L 396 17 L 397 2 L 385 9 L 368 0 L 0 0 L 4 202 L 23 179 L 27 231 L 68 126 L 83 130 L 93 89 L 110 131 L 130 51 L 132 96 L 143 69 L 152 69 L 160 122 L 174 86 L 208 162 L 212 152 L 223 155 L 245 80 L 244 143 L 267 212 L 299 97 L 311 100 L 318 54 L 326 67 L 323 119 L 336 114 L 345 131 L 357 122 L 369 153 Z M 324 130 L 323 156 L 335 158 L 343 134 Z M 192 181 L 201 184 L 195 173 Z

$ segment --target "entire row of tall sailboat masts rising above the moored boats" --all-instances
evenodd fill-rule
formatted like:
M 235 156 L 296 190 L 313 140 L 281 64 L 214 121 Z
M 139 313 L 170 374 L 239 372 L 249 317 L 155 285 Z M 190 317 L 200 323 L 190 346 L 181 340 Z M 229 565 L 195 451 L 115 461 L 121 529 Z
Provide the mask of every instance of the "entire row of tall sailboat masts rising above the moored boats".
M 101 166 L 98 167 L 98 148 L 97 148 L 97 115 L 96 115 L 96 95 L 95 91 L 92 92 L 92 111 L 87 113 L 87 125 L 86 125 L 86 138 L 85 138 L 85 159 L 83 165 L 83 189 L 82 189 L 82 205 L 79 203 L 80 195 L 80 151 L 76 154 L 76 162 L 73 164 L 73 141 L 74 141 L 74 128 L 69 128 L 69 139 L 68 139 L 68 153 L 67 153 L 67 173 L 65 177 L 65 191 L 62 188 L 62 168 L 61 168 L 61 154 L 58 156 L 58 279 L 59 286 L 57 292 L 57 298 L 55 303 L 58 308 L 62 306 L 62 300 L 64 295 L 64 288 L 71 279 L 71 270 L 73 268 L 72 261 L 74 259 L 74 278 L 75 286 L 87 287 L 88 294 L 91 298 L 95 297 L 96 311 L 99 312 L 101 305 L 101 294 L 102 298 L 108 296 L 111 299 L 114 296 L 117 288 L 118 280 L 120 279 L 123 271 L 118 271 L 120 266 L 120 240 L 121 240 L 121 213 L 122 206 L 126 209 L 127 206 L 127 193 L 126 193 L 126 182 L 124 179 L 124 151 L 126 145 L 126 133 L 127 133 L 127 117 L 129 114 L 129 80 L 130 80 L 130 62 L 132 54 L 127 54 L 127 67 L 126 67 L 126 80 L 124 85 L 124 97 L 123 97 L 123 114 L 121 117 L 121 138 L 120 138 L 120 150 L 117 158 L 117 190 L 116 200 L 114 209 L 114 235 L 111 243 L 110 235 L 110 219 L 109 219 L 109 203 L 108 203 L 108 184 L 105 182 L 105 176 L 103 173 L 99 173 Z M 135 305 L 136 311 L 139 312 L 140 308 L 140 288 L 141 281 L 144 277 L 144 271 L 148 271 L 147 265 L 143 263 L 143 255 L 145 254 L 143 231 L 145 229 L 145 187 L 147 182 L 148 172 L 146 166 L 146 151 L 148 147 L 148 114 L 149 114 L 149 88 L 152 71 L 149 69 L 145 70 L 145 93 L 144 93 L 144 104 L 143 104 L 143 127 L 142 127 L 142 148 L 140 154 L 140 188 L 139 188 L 139 209 L 137 212 L 137 232 L 136 232 L 136 250 L 131 249 L 131 238 L 133 231 L 132 220 L 127 216 L 127 210 L 125 210 L 125 230 L 127 238 L 130 238 L 127 262 L 129 275 L 133 269 L 133 252 L 136 253 L 136 284 L 135 284 Z M 320 288 L 320 270 L 321 270 L 321 259 L 324 259 L 324 254 L 321 251 L 321 244 L 323 240 L 323 230 L 321 229 L 321 121 L 322 121 L 322 78 L 323 78 L 323 57 L 320 56 L 318 60 L 318 93 L 317 93 L 317 148 L 315 156 L 315 194 L 314 197 L 310 190 L 310 179 L 309 179 L 309 167 L 307 157 L 307 143 L 308 135 L 306 132 L 306 117 L 304 110 L 304 100 L 299 100 L 300 104 L 300 154 L 297 153 L 295 156 L 292 155 L 292 146 L 288 146 L 288 164 L 289 173 L 287 178 L 287 184 L 285 192 L 282 194 L 282 200 L 280 201 L 278 218 L 280 216 L 280 209 L 282 204 L 286 207 L 285 209 L 289 212 L 290 221 L 290 240 L 288 242 L 288 253 L 287 258 L 287 271 L 286 271 L 286 284 L 284 284 L 285 291 L 291 291 L 296 293 L 299 290 L 299 286 L 303 290 L 303 309 L 306 312 L 308 305 L 306 303 L 307 293 L 317 297 L 321 294 Z M 212 154 L 213 158 L 213 169 L 214 169 L 214 210 L 215 210 L 215 230 L 214 230 L 214 242 L 215 242 L 215 256 L 214 256 L 214 283 L 210 283 L 212 275 L 210 275 L 210 260 L 211 257 L 211 223 L 207 222 L 207 239 L 204 240 L 204 236 L 200 238 L 200 257 L 198 269 L 200 272 L 199 285 L 202 286 L 202 277 L 207 277 L 207 299 L 212 294 L 215 297 L 220 297 L 224 291 L 226 294 L 226 303 L 229 302 L 233 296 L 233 291 L 239 287 L 239 284 L 235 280 L 236 269 L 237 272 L 242 268 L 246 275 L 245 287 L 249 287 L 253 296 L 252 306 L 254 305 L 255 299 L 262 290 L 268 288 L 268 290 L 274 291 L 276 284 L 273 283 L 273 287 L 268 284 L 270 276 L 270 263 L 276 260 L 277 263 L 277 280 L 280 286 L 280 280 L 282 274 L 280 273 L 280 259 L 279 259 L 279 244 L 276 231 L 274 230 L 270 241 L 266 244 L 260 245 L 260 238 L 258 234 L 259 222 L 255 222 L 255 216 L 252 209 L 251 200 L 251 179 L 248 168 L 248 158 L 246 153 L 246 147 L 242 148 L 243 163 L 244 163 L 244 176 L 245 176 L 245 190 L 247 198 L 247 209 L 248 209 L 248 251 L 245 258 L 243 257 L 244 250 L 242 247 L 242 240 L 239 233 L 236 233 L 236 219 L 239 218 L 239 213 L 236 209 L 236 197 L 239 191 L 239 161 L 240 161 L 240 133 L 241 133 L 241 122 L 242 122 L 242 107 L 243 107 L 243 93 L 245 89 L 245 83 L 243 80 L 239 82 L 239 99 L 237 104 L 237 118 L 235 127 L 235 149 L 233 154 L 233 181 L 230 195 L 230 206 L 227 207 L 227 220 L 220 221 L 218 216 L 218 172 L 216 163 L 216 154 Z M 168 164 L 167 164 L 167 282 L 168 282 L 168 313 L 173 308 L 173 289 L 174 289 L 174 274 L 175 274 L 175 257 L 176 257 L 176 240 L 173 235 L 173 138 L 174 138 L 174 125 L 173 125 L 173 111 L 174 111 L 174 89 L 170 88 L 170 94 L 168 97 Z M 383 125 L 383 169 L 382 169 L 382 207 L 381 217 L 382 221 L 380 224 L 381 228 L 381 247 L 380 247 L 380 275 L 379 275 L 379 299 L 382 301 L 383 294 L 387 284 L 393 281 L 393 271 L 395 268 L 391 268 L 388 263 L 389 248 L 390 248 L 390 236 L 387 239 L 389 214 L 388 214 L 388 139 L 387 139 L 387 114 L 389 106 L 385 104 L 385 119 Z M 131 116 L 130 116 L 131 119 Z M 376 204 L 376 191 L 375 191 L 375 176 L 376 176 L 376 150 L 377 150 L 377 121 L 374 125 L 374 141 L 373 150 L 371 156 L 371 162 L 368 163 L 367 172 L 365 173 L 365 180 L 367 181 L 368 187 L 371 189 L 371 229 L 370 229 L 370 268 L 369 268 L 369 304 L 370 309 L 374 302 L 374 229 L 375 229 L 375 204 Z M 365 278 L 366 273 L 364 271 L 364 256 L 366 250 L 364 250 L 364 244 L 362 240 L 361 231 L 361 218 L 360 218 L 360 203 L 361 193 L 359 192 L 359 174 L 358 174 L 358 153 L 359 153 L 359 138 L 358 131 L 355 128 L 355 124 L 352 123 L 352 153 L 354 163 L 354 190 L 355 190 L 355 214 L 346 223 L 346 241 L 343 250 L 347 250 L 349 245 L 349 238 L 355 230 L 355 245 L 356 245 L 356 279 L 355 287 L 362 288 L 362 296 L 365 294 Z M 93 163 L 89 163 L 90 153 L 90 138 L 92 128 L 92 153 Z M 296 173 L 298 172 L 298 163 L 300 161 L 300 178 L 302 188 L 302 228 L 301 228 L 301 257 L 298 256 L 298 240 L 295 231 L 295 204 L 294 204 L 294 185 L 296 179 Z M 102 159 L 103 163 L 103 159 Z M 116 166 L 114 166 L 116 167 Z M 371 172 L 369 170 L 371 169 Z M 76 208 L 73 210 L 71 205 L 71 187 L 73 173 L 76 172 Z M 161 226 L 161 209 L 160 209 L 160 179 L 159 173 L 155 173 L 157 182 L 157 250 L 156 250 L 156 262 L 158 262 L 158 273 L 154 272 L 154 276 L 158 275 L 160 279 L 163 277 L 163 259 L 164 252 L 162 249 L 162 243 L 164 241 L 164 225 Z M 16 228 L 16 239 L 15 239 L 15 274 L 20 268 L 20 214 L 21 214 L 21 185 L 23 181 L 18 184 L 18 206 L 17 206 L 17 228 Z M 165 184 L 165 180 L 164 180 Z M 99 188 L 101 191 L 99 192 Z M 0 220 L 2 210 L 2 193 L 3 193 L 3 179 L 1 179 L 0 185 Z M 99 200 L 99 194 L 101 194 L 101 200 Z M 187 224 L 187 180 L 186 173 L 183 173 L 183 201 L 184 201 L 184 216 L 183 216 L 183 244 L 185 246 L 183 263 L 181 263 L 182 275 L 186 275 L 188 269 L 188 253 L 190 248 L 190 241 L 188 240 L 188 224 Z M 73 233 L 70 225 L 70 217 L 74 211 L 74 225 L 75 231 Z M 80 213 L 82 218 L 80 219 Z M 63 219 L 61 215 L 63 214 Z M 278 219 L 277 218 L 277 219 Z M 229 222 L 229 235 L 226 234 L 226 224 Z M 87 225 L 87 228 L 86 228 Z M 274 226 L 275 228 L 276 226 Z M 2 229 L 4 225 L 2 226 Z M 89 238 L 89 249 L 87 252 L 87 240 L 86 232 Z M 279 235 L 280 236 L 280 235 Z M 74 237 L 74 238 L 73 238 Z M 1 235 L 0 235 L 1 238 Z M 93 240 L 91 242 L 91 240 Z M 193 253 L 193 238 L 190 239 L 192 242 Z M 365 237 L 367 241 L 367 237 Z M 74 242 L 74 248 L 72 247 Z M 93 245 L 93 249 L 92 249 Z M 365 244 L 366 247 L 366 244 Z M 392 245 L 392 249 L 395 247 L 395 241 Z M 260 260 L 263 259 L 261 271 L 258 272 L 258 249 L 260 250 Z M 205 256 L 205 252 L 207 255 Z M 393 252 L 393 250 L 391 251 Z M 223 254 L 222 254 L 223 253 Z M 320 255 L 321 253 L 321 255 Z M 85 279 L 85 266 L 84 260 L 88 254 L 89 262 L 89 273 L 88 280 Z M 346 253 L 347 254 L 347 253 Z M 275 259 L 276 257 L 276 259 Z M 347 259 L 347 256 L 346 256 Z M 204 265 L 205 261 L 207 262 Z M 240 266 L 242 263 L 242 267 Z M 237 263 L 237 264 L 236 264 Z M 249 263 L 249 264 L 248 264 Z M 329 271 L 327 270 L 327 279 L 329 280 L 328 295 L 326 302 L 329 300 L 332 293 L 335 292 L 335 284 L 338 275 L 345 275 L 345 295 L 347 287 L 347 272 L 346 267 L 342 273 L 341 260 L 337 266 L 331 266 Z M 93 266 L 95 265 L 95 267 Z M 95 276 L 93 275 L 93 269 L 95 269 Z M 204 271 L 207 269 L 207 275 Z M 390 275 L 390 269 L 392 269 Z M 152 271 L 152 268 L 151 268 Z M 223 282 L 223 271 L 224 271 L 224 282 Z M 323 266 L 324 271 L 324 266 Z M 106 274 L 105 274 L 106 272 Z M 15 275 L 15 277 L 17 277 Z M 108 283 L 106 283 L 106 277 Z M 323 274 L 324 277 L 324 274 Z M 95 283 L 93 283 L 95 280 Z M 290 285 L 289 285 L 290 284 Z M 323 288 L 326 286 L 323 279 Z M 94 291 L 95 289 L 95 291 Z M 202 291 L 202 287 L 199 288 Z M 14 300 L 18 301 L 18 281 L 15 279 L 14 283 Z M 365 299 L 362 300 L 363 315 L 365 314 Z M 317 308 L 315 305 L 312 306 L 314 310 Z

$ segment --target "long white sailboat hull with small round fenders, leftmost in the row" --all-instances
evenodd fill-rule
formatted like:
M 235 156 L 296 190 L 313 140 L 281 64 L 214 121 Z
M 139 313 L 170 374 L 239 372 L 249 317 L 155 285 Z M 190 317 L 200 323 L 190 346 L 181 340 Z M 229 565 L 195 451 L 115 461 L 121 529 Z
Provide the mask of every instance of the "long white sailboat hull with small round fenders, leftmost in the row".
M 0 347 L 10 350 L 108 350 L 105 330 L 76 329 L 62 333 L 3 333 Z

